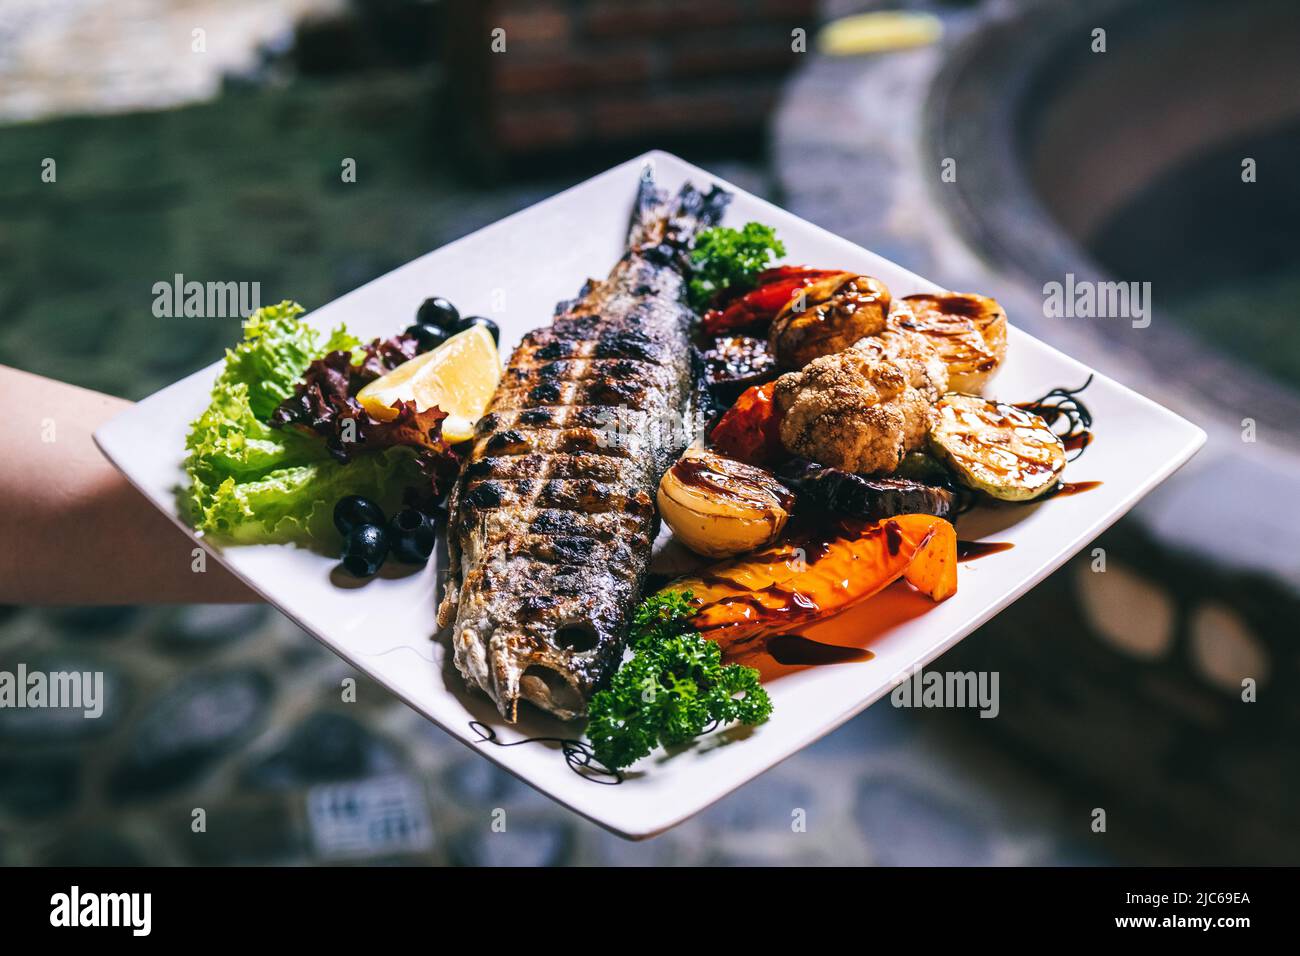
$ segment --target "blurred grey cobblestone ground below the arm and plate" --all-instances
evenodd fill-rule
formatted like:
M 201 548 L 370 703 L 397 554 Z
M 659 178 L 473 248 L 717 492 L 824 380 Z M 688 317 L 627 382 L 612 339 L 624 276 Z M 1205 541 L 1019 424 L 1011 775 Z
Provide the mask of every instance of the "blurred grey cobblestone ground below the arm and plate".
M 1109 858 L 1089 808 L 1000 756 L 974 714 L 876 706 L 698 818 L 628 843 L 469 753 L 265 607 L 12 610 L 0 661 L 103 670 L 108 700 L 98 721 L 0 711 L 9 865 Z M 348 676 L 358 695 L 344 704 Z M 806 832 L 792 832 L 796 809 Z

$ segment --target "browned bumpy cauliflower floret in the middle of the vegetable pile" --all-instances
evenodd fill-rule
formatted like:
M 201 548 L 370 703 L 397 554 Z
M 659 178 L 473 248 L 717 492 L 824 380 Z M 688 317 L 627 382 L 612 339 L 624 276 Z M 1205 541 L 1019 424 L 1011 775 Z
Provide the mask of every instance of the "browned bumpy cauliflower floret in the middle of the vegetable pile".
M 776 380 L 781 442 L 814 462 L 861 473 L 889 473 L 923 447 L 931 402 L 916 388 L 926 363 L 845 349 Z

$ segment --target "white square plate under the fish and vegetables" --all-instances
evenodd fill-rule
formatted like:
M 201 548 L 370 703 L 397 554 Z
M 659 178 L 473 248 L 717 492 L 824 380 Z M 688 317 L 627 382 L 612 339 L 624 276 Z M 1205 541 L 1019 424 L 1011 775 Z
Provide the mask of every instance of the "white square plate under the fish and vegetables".
M 321 329 L 346 323 L 363 339 L 390 336 L 410 324 L 428 295 L 438 294 L 464 313 L 494 316 L 508 352 L 524 333 L 550 323 L 558 300 L 571 298 L 589 276 L 603 277 L 621 255 L 637 176 L 647 160 L 654 161 L 660 185 L 670 189 L 690 179 L 731 190 L 734 199 L 727 224 L 775 225 L 788 247 L 788 261 L 879 276 L 896 297 L 936 289 L 703 169 L 653 152 L 421 256 L 307 320 Z M 182 527 L 176 489 L 185 479 L 185 436 L 207 406 L 218 371 L 220 363 L 162 389 L 95 436 L 126 477 Z M 989 390 L 1005 401 L 1030 401 L 1057 386 L 1075 388 L 1091 373 L 1013 328 L 1008 362 Z M 542 717 L 510 727 L 485 697 L 464 688 L 446 662 L 445 644 L 433 639 L 442 576 L 436 562 L 419 574 L 344 588 L 332 578 L 335 562 L 307 549 L 214 549 L 200 542 L 304 630 L 448 734 L 577 813 L 638 839 L 680 823 L 876 701 L 909 669 L 932 661 L 1060 567 L 1205 440 L 1196 425 L 1100 375 L 1086 401 L 1096 416 L 1095 441 L 1069 467 L 1067 479 L 1102 481 L 1100 488 L 1035 506 L 963 515 L 963 538 L 992 533 L 1014 548 L 978 564 L 962 564 L 958 593 L 944 604 L 930 605 L 919 597 L 911 602 L 900 591 L 906 585 L 896 585 L 892 594 L 885 592 L 844 615 L 836 627 L 863 628 L 872 659 L 774 680 L 768 689 L 775 713 L 744 740 L 719 745 L 719 735 L 712 735 L 672 756 L 653 754 L 620 786 L 602 786 L 575 773 L 556 744 L 498 747 L 476 732 L 471 722 L 490 727 L 498 743 L 578 735 L 575 727 Z M 1050 645 L 1044 645 L 1044 653 L 1052 653 Z

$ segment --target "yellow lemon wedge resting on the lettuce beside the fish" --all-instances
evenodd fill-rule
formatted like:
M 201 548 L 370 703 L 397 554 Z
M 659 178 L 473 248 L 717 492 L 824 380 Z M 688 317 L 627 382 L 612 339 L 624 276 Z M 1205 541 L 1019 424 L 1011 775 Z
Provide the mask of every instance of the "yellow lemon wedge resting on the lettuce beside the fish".
M 473 437 L 499 378 L 500 354 L 491 333 L 472 325 L 376 378 L 356 393 L 356 401 L 381 421 L 396 418 L 398 401 L 415 402 L 416 411 L 438 406 L 447 412 L 442 436 L 454 445 Z

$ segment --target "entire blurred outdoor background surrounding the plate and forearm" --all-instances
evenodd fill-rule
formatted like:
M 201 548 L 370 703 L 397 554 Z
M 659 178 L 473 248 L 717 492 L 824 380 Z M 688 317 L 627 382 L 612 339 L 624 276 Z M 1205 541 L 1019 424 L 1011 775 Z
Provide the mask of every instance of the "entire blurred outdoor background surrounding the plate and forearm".
M 0 669 L 109 705 L 0 710 L 0 862 L 1300 862 L 1297 49 L 1283 0 L 4 0 L 0 363 L 140 398 L 238 334 L 159 334 L 156 281 L 311 308 L 662 147 L 1210 437 L 1104 574 L 933 665 L 998 671 L 997 719 L 881 702 L 642 844 L 341 702 L 265 607 L 0 609 Z M 1150 282 L 1153 321 L 1048 317 L 1067 274 Z

